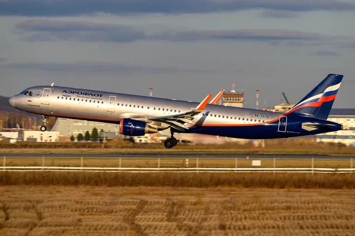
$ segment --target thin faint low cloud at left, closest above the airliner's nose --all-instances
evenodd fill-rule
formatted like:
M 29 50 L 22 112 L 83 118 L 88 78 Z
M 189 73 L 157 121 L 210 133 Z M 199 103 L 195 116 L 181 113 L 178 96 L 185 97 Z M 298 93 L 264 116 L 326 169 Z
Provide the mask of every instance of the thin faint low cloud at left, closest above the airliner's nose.
M 2 64 L 0 68 L 31 69 L 40 71 L 80 72 L 80 73 L 210 73 L 211 70 L 190 70 L 179 67 L 141 67 L 128 66 L 123 64 L 102 63 L 102 62 L 77 62 L 77 63 L 9 63 Z

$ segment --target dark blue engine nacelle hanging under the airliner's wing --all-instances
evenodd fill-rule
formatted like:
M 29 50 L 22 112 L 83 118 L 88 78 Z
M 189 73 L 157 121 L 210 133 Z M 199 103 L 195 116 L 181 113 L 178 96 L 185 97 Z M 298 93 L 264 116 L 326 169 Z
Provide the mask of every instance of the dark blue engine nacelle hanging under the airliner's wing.
M 157 128 L 150 126 L 145 121 L 124 118 L 120 120 L 120 133 L 128 136 L 143 136 L 146 133 L 156 133 Z

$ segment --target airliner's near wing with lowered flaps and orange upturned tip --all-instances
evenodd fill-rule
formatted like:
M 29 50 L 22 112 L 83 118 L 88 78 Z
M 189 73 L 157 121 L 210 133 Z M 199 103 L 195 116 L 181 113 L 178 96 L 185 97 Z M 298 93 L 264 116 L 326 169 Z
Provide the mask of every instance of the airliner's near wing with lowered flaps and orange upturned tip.
M 154 122 L 161 122 L 165 123 L 168 125 L 168 127 L 173 127 L 177 130 L 187 130 L 189 129 L 188 126 L 184 125 L 186 123 L 186 120 L 193 120 L 195 119 L 194 116 L 200 114 L 204 108 L 206 107 L 209 99 L 211 98 L 211 94 L 209 94 L 195 109 L 189 112 L 185 113 L 180 113 L 180 114 L 174 114 L 174 115 L 169 115 L 169 116 L 156 116 L 156 117 L 136 117 L 136 118 L 130 118 L 134 120 L 144 120 L 149 123 L 154 123 Z

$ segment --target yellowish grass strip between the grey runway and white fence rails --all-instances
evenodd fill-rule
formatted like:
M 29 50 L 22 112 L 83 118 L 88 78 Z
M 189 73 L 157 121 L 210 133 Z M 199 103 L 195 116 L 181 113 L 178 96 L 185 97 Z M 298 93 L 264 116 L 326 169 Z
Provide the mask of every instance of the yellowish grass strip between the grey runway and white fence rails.
M 256 159 L 253 159 L 256 160 Z M 135 167 L 135 168 L 196 168 L 197 158 L 83 158 L 83 167 Z M 314 168 L 350 168 L 350 159 L 314 159 Z M 0 168 L 4 161 L 0 157 Z M 42 166 L 42 157 L 38 158 L 9 158 L 5 159 L 6 166 Z M 45 158 L 45 166 L 80 167 L 81 158 Z M 274 160 L 261 159 L 260 168 L 273 168 Z M 309 159 L 275 159 L 276 168 L 311 168 L 312 160 Z M 243 158 L 198 158 L 199 168 L 251 168 L 252 159 Z

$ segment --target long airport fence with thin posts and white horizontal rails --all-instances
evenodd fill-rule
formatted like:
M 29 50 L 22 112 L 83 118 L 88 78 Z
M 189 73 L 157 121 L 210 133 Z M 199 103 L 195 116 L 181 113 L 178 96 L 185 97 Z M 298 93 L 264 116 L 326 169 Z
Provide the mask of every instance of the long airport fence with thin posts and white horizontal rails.
M 352 173 L 353 158 L 335 156 L 238 156 L 209 157 L 3 157 L 2 171 L 117 171 L 117 172 L 298 172 Z

